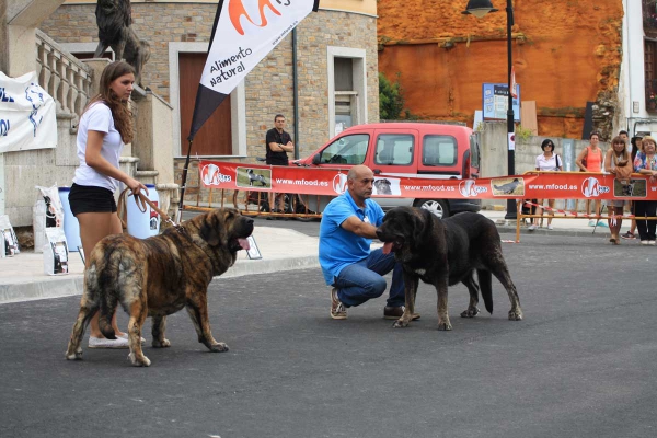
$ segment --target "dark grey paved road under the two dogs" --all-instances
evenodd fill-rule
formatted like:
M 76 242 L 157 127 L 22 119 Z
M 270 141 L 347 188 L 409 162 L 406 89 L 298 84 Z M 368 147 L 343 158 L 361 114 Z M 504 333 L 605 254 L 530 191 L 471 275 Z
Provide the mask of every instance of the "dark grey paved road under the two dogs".
M 425 285 L 423 318 L 393 330 L 383 299 L 331 320 L 318 269 L 219 278 L 210 318 L 230 351 L 208 353 L 181 312 L 150 368 L 126 350 L 65 360 L 79 297 L 0 306 L 0 436 L 655 436 L 657 250 L 532 237 L 504 251 L 522 322 L 498 283 L 474 320 L 451 288 L 453 331 L 438 332 Z

